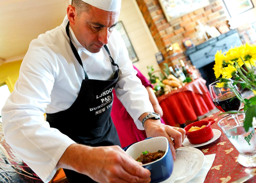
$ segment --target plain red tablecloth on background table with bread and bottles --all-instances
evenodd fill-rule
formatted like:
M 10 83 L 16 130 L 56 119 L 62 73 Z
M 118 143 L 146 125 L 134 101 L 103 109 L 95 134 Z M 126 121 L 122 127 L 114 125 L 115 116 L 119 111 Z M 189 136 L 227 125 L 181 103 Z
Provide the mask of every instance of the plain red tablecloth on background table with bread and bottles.
M 178 90 L 158 97 L 166 124 L 179 126 L 215 108 L 205 83 L 204 79 L 198 78 Z

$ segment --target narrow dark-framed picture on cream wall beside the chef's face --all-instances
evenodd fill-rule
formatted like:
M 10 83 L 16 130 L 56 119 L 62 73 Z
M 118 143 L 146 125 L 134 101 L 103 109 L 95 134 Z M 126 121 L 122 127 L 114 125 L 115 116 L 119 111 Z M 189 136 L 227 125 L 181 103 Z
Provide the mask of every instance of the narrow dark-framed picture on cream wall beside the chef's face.
M 130 41 L 130 38 L 124 28 L 124 25 L 123 25 L 123 22 L 122 21 L 119 21 L 117 23 L 117 25 L 115 26 L 115 28 L 118 30 L 118 32 L 121 34 L 121 36 L 123 37 L 124 39 L 124 42 L 125 42 L 125 46 L 128 50 L 128 53 L 129 53 L 129 58 L 132 62 L 137 62 L 139 59 L 135 53 L 135 50 L 132 46 L 132 43 Z

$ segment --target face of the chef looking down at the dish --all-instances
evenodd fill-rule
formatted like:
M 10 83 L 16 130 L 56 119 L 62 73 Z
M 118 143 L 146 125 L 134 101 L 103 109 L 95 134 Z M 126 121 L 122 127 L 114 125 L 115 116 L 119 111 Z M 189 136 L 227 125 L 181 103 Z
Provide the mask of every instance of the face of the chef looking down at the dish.
M 85 49 L 97 53 L 108 43 L 118 17 L 118 11 L 104 11 L 91 7 L 89 12 L 81 12 L 79 16 L 74 17 L 72 29 Z

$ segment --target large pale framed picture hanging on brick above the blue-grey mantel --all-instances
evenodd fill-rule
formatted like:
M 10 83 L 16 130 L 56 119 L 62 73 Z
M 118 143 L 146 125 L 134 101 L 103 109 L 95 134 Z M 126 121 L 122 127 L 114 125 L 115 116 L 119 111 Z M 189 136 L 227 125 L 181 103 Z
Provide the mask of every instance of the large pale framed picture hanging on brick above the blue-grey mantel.
M 159 0 L 168 22 L 210 4 L 209 0 Z

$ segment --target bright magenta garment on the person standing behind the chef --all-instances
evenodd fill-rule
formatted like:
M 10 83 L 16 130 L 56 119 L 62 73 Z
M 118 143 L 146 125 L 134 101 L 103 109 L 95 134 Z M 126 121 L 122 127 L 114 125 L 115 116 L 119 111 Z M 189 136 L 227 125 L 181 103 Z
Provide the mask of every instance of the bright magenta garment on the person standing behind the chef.
M 147 87 L 153 87 L 150 81 L 144 77 L 144 75 L 135 67 L 134 69 L 138 71 L 137 77 L 141 80 L 142 84 Z M 139 130 L 132 117 L 124 108 L 123 104 L 117 98 L 115 91 L 113 90 L 114 101 L 112 105 L 111 117 L 114 125 L 117 129 L 117 133 L 121 142 L 122 147 L 126 147 L 134 142 L 142 141 L 147 138 L 145 130 Z M 162 121 L 162 119 L 161 119 Z M 164 123 L 162 121 L 162 123 Z

